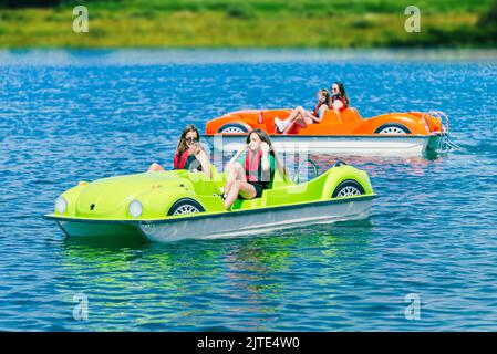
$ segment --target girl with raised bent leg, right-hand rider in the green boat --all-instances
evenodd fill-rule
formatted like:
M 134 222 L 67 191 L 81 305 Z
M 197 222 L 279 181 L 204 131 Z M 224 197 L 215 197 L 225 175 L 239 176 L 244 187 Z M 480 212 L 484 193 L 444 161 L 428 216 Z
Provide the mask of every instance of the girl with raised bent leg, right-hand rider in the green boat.
M 246 145 L 225 168 L 228 171 L 224 188 L 226 209 L 232 206 L 238 196 L 244 199 L 259 198 L 262 190 L 269 188 L 275 174 L 275 157 L 268 134 L 262 129 L 251 131 Z

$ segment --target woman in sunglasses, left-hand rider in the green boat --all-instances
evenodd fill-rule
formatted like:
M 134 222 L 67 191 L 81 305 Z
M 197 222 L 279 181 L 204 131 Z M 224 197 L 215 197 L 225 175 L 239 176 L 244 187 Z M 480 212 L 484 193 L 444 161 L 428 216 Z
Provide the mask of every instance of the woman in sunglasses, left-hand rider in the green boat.
M 210 178 L 210 164 L 207 154 L 200 143 L 200 135 L 195 125 L 187 125 L 179 138 L 176 154 L 174 155 L 174 169 L 188 169 L 203 171 Z M 148 167 L 148 171 L 164 170 L 164 167 L 154 163 Z

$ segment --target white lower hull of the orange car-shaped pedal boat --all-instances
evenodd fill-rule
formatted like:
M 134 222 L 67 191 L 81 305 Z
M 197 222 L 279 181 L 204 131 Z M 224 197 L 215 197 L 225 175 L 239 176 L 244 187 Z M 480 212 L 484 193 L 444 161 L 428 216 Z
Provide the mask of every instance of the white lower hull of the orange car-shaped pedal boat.
M 245 144 L 245 135 L 206 135 L 215 150 L 235 152 Z M 277 152 L 359 155 L 359 156 L 423 156 L 438 147 L 439 135 L 272 135 Z

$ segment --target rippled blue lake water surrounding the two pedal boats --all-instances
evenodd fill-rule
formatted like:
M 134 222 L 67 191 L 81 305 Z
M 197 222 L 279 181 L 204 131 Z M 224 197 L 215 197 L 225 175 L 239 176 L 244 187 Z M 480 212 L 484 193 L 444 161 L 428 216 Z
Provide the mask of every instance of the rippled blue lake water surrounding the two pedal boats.
M 336 79 L 363 116 L 446 112 L 464 150 L 346 158 L 380 195 L 360 222 L 142 244 L 41 218 L 79 180 L 170 166 L 187 123 Z M 496 331 L 496 122 L 495 52 L 0 52 L 0 330 Z

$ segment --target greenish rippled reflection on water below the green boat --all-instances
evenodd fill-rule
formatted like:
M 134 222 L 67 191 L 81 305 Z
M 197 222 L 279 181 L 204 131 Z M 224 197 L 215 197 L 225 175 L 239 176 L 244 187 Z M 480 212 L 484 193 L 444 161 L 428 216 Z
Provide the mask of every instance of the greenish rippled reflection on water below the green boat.
M 333 291 L 367 259 L 373 229 L 362 220 L 172 243 L 68 238 L 62 267 L 71 277 L 56 289 L 68 305 L 85 293 L 91 322 L 64 329 L 283 330 L 281 316 L 311 310 L 304 299 L 317 291 L 333 317 Z M 287 325 L 311 329 L 308 321 Z

